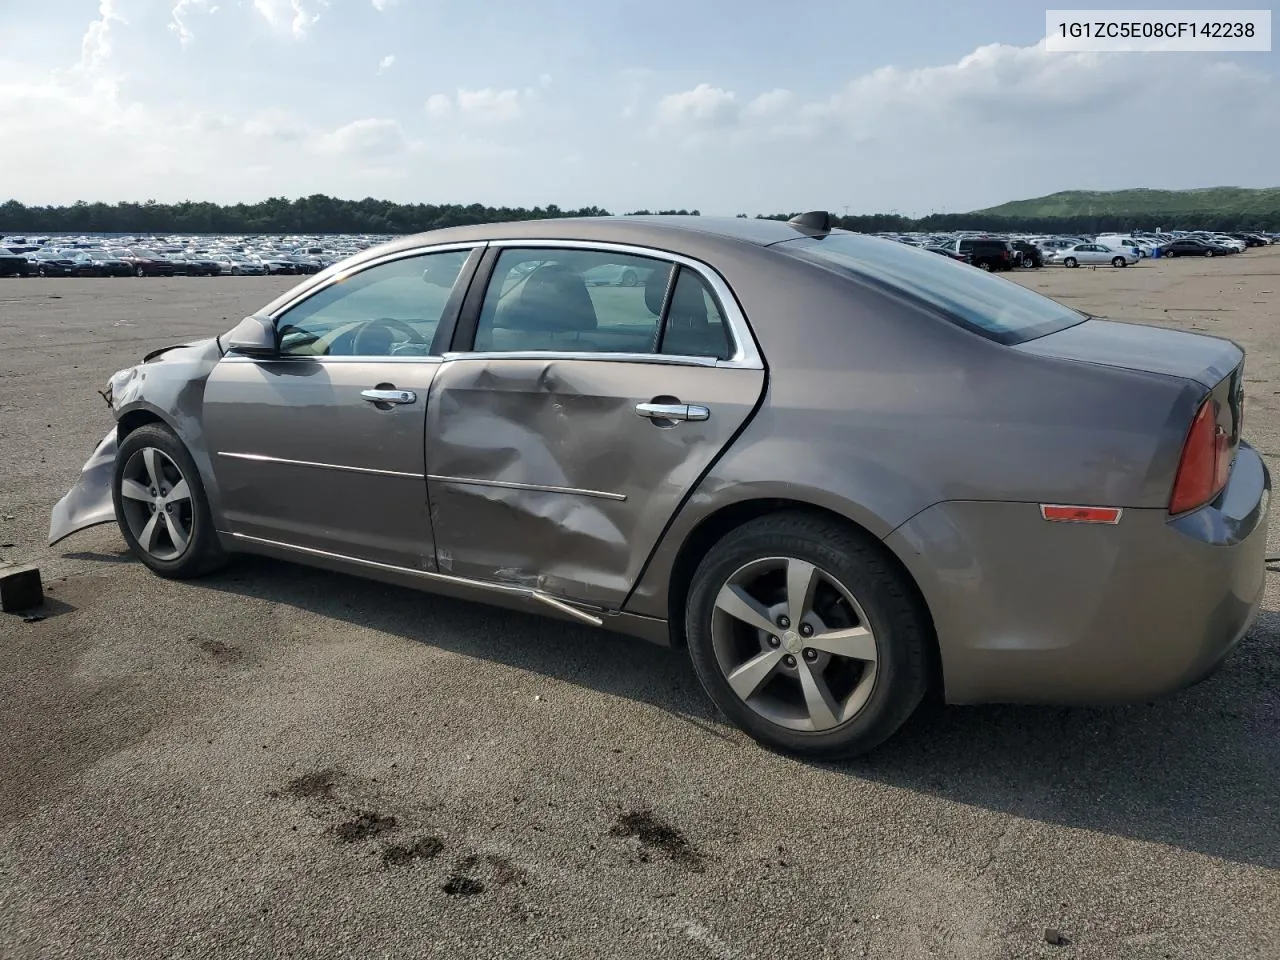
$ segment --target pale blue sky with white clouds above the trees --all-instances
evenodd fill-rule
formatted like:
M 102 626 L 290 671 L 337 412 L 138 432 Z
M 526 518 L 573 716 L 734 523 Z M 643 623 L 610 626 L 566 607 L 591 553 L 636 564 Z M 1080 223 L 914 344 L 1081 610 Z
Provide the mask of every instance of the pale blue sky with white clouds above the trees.
M 1043 33 L 1016 0 L 0 0 L 0 201 L 918 216 L 1280 184 L 1280 55 Z

